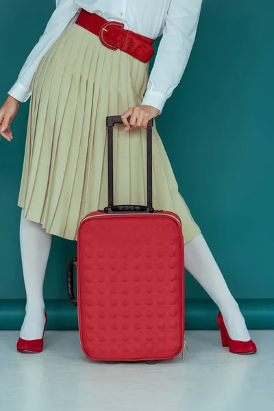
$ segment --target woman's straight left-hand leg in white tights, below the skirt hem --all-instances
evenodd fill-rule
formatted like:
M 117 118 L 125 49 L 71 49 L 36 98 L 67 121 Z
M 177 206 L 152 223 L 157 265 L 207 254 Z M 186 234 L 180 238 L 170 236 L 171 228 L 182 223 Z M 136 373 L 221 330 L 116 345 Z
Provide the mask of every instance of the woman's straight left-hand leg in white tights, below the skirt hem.
M 45 327 L 43 285 L 51 249 L 51 234 L 45 232 L 40 224 L 26 220 L 23 210 L 20 223 L 20 245 L 27 295 L 25 320 L 20 336 L 24 340 L 36 340 L 42 338 Z

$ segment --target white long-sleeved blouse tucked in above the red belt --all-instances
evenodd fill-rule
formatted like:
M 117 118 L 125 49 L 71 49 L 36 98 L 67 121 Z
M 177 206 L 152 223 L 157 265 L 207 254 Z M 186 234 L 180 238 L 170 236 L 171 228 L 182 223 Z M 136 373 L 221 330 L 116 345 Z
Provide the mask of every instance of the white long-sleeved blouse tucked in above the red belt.
M 44 34 L 29 54 L 9 94 L 19 101 L 31 95 L 32 79 L 42 57 L 79 11 L 97 13 L 108 21 L 120 21 L 125 29 L 149 38 L 162 36 L 142 104 L 160 112 L 179 84 L 197 31 L 202 0 L 56 0 Z

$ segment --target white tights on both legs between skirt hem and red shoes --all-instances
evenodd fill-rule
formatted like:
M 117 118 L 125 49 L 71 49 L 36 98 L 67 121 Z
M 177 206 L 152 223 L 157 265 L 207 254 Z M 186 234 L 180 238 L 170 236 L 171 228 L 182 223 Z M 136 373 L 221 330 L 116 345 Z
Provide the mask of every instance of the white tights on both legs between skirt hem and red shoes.
M 25 340 L 36 340 L 42 338 L 45 325 L 43 284 L 51 249 L 51 234 L 45 232 L 40 224 L 24 219 L 22 212 L 20 242 L 27 295 L 26 315 L 20 336 Z M 250 340 L 245 319 L 202 235 L 186 244 L 185 266 L 219 306 L 229 336 L 234 340 Z

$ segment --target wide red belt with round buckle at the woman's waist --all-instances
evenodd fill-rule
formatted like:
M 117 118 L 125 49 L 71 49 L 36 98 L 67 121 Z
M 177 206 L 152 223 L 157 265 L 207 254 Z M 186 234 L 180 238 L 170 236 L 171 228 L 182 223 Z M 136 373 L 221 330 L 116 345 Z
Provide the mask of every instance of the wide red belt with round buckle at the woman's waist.
M 102 45 L 108 49 L 120 49 L 144 63 L 153 56 L 153 39 L 125 30 L 123 23 L 105 20 L 98 14 L 82 9 L 76 24 L 99 36 Z

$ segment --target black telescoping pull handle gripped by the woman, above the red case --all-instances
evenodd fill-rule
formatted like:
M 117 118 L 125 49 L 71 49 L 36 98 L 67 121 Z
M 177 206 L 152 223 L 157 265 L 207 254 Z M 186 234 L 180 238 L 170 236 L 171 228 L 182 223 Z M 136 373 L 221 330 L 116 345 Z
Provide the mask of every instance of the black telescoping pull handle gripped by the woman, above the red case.
M 130 117 L 127 119 L 130 121 Z M 147 207 L 152 208 L 152 127 L 154 119 L 147 124 Z M 123 124 L 121 116 L 108 116 L 108 208 L 114 206 L 114 177 L 113 177 L 113 127 Z

